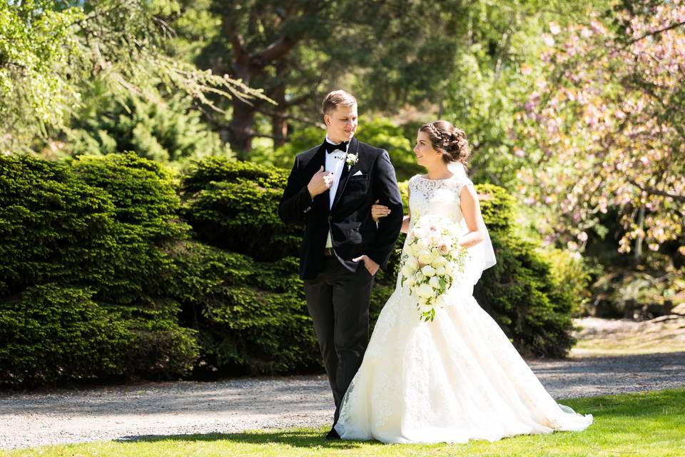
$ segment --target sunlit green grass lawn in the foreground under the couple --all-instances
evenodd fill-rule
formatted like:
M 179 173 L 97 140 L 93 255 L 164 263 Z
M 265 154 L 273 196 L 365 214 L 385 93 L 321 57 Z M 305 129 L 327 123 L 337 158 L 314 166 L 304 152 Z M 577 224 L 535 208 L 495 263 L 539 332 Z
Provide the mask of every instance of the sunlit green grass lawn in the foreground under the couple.
M 685 388 L 563 401 L 592 413 L 579 433 L 517 436 L 496 443 L 385 445 L 325 441 L 324 429 L 156 436 L 0 451 L 0 456 L 685 456 Z

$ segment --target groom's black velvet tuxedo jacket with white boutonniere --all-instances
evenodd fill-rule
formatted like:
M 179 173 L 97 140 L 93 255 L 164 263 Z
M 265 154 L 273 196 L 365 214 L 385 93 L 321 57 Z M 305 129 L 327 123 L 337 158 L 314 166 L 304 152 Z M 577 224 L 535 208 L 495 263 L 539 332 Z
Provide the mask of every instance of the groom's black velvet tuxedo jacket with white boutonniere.
M 347 153 L 357 154 L 359 160 L 349 170 L 347 164 L 342 167 L 330 210 L 329 191 L 312 199 L 307 190 L 312 176 L 321 166 L 325 167 L 323 144 L 295 157 L 278 215 L 286 224 L 305 226 L 300 248 L 300 278 L 313 279 L 323 269 L 329 229 L 336 258 L 352 272 L 364 268 L 362 261 L 352 262 L 352 258 L 362 254 L 385 269 L 400 234 L 402 198 L 387 151 L 352 138 Z M 391 210 L 378 224 L 371 218 L 371 205 L 376 200 Z

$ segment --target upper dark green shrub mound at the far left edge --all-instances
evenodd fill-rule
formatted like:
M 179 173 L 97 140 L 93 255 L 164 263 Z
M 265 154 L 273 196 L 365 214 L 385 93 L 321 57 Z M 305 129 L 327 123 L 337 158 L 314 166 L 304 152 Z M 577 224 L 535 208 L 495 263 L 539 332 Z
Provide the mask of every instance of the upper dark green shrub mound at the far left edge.
M 0 296 L 34 284 L 101 282 L 114 206 L 64 164 L 0 157 Z

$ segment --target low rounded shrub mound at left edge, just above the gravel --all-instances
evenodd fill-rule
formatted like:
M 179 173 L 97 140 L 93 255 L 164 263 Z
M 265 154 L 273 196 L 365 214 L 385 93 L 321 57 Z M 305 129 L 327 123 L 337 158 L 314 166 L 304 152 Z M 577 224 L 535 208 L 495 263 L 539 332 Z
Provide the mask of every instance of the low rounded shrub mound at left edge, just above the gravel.
M 46 283 L 0 301 L 0 385 L 121 372 L 133 335 L 83 288 Z

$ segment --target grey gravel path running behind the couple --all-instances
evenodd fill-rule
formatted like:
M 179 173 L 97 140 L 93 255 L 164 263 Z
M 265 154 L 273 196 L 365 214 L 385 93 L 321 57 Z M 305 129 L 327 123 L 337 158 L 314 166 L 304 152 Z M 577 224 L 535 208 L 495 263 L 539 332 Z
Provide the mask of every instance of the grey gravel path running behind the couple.
M 685 351 L 529 361 L 554 398 L 685 386 Z M 0 392 L 0 448 L 330 423 L 324 376 Z

